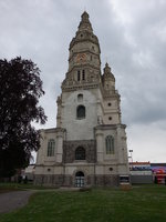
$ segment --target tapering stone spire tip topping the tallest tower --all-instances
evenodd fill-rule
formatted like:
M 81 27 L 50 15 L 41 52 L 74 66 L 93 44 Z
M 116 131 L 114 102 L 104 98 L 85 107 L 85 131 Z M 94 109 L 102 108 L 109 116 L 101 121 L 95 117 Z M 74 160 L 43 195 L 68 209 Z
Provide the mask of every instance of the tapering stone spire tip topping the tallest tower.
M 89 20 L 89 13 L 86 11 L 84 11 L 81 16 L 81 22 L 79 24 L 79 31 L 83 31 L 83 30 L 89 30 L 91 32 L 93 32 L 93 29 L 92 29 L 92 24 Z

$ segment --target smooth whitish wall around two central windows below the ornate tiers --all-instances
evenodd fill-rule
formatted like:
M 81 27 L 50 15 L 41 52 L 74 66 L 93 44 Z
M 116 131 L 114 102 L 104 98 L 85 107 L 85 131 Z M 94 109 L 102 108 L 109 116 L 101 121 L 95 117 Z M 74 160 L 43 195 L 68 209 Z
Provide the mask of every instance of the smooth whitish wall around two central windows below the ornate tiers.
M 83 94 L 83 101 L 77 101 L 77 94 Z M 76 118 L 77 105 L 86 109 L 85 119 Z M 66 129 L 66 140 L 94 139 L 93 128 L 97 124 L 96 98 L 91 91 L 77 90 L 63 92 L 62 95 L 62 128 Z

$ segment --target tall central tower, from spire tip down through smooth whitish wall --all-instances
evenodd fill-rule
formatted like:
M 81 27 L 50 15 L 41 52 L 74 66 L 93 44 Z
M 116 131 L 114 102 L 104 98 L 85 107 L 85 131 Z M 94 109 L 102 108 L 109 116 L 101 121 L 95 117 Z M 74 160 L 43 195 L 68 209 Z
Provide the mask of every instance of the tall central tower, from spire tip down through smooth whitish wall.
M 56 122 L 59 128 L 66 129 L 68 140 L 94 140 L 94 127 L 102 120 L 100 56 L 98 39 L 84 11 L 69 47 L 69 69 L 58 98 Z

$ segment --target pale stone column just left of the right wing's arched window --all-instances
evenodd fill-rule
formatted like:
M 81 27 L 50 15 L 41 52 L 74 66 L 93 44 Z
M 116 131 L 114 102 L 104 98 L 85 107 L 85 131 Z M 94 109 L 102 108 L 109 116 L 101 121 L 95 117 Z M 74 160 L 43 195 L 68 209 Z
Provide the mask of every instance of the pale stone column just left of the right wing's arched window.
M 103 133 L 96 131 L 96 153 L 97 162 L 103 162 Z

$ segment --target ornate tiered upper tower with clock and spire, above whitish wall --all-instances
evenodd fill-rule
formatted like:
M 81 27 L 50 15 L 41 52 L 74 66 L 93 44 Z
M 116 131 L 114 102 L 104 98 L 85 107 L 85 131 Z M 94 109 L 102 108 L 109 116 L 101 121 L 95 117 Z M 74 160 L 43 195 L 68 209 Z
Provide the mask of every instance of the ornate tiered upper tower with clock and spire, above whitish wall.
M 75 37 L 69 48 L 69 70 L 62 83 L 62 91 L 71 87 L 85 87 L 101 83 L 101 50 L 97 37 L 93 33 L 89 14 L 82 14 Z

